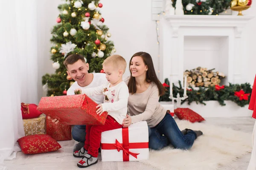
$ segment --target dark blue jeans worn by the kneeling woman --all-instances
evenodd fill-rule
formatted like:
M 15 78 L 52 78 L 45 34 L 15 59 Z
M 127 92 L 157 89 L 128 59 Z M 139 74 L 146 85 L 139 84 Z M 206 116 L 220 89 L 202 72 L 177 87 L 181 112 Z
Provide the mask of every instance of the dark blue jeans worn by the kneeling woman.
M 194 131 L 189 130 L 186 135 L 183 135 L 173 117 L 166 113 L 163 120 L 151 128 L 149 148 L 160 150 L 172 144 L 175 148 L 188 150 L 192 147 L 195 139 L 196 133 Z

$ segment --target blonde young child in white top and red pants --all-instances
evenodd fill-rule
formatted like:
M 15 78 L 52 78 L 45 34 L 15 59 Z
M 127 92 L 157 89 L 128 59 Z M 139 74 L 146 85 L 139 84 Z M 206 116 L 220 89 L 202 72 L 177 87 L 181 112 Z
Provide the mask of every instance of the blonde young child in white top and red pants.
M 122 56 L 112 55 L 102 63 L 106 73 L 106 81 L 96 88 L 76 89 L 87 96 L 104 95 L 104 102 L 96 106 L 96 113 L 101 116 L 107 111 L 105 125 L 87 125 L 84 147 L 73 153 L 75 157 L 83 157 L 77 163 L 78 167 L 89 167 L 98 162 L 98 149 L 100 147 L 101 133 L 122 127 L 126 118 L 129 91 L 122 75 L 125 72 L 126 62 Z

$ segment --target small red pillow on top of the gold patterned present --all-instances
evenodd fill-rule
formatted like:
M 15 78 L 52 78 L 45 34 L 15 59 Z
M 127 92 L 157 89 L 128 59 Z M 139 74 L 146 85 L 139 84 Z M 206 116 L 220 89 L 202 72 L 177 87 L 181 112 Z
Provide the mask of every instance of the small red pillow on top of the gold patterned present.
M 22 119 L 34 119 L 38 118 L 42 113 L 38 111 L 37 105 L 21 103 Z

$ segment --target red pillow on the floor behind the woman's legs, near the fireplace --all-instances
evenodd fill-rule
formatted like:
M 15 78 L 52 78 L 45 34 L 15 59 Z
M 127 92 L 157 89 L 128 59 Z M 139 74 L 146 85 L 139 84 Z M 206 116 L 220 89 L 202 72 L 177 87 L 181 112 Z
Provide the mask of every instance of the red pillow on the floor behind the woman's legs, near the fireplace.
M 174 114 L 180 119 L 180 120 L 188 120 L 189 122 L 202 122 L 205 119 L 200 116 L 198 113 L 195 113 L 189 108 L 177 108 L 174 110 Z

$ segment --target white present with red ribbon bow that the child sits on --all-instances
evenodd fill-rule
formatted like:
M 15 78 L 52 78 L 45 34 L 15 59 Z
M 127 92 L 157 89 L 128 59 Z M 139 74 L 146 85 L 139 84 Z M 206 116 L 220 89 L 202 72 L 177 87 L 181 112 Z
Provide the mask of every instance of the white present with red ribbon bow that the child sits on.
M 149 159 L 147 122 L 137 122 L 129 127 L 102 132 L 101 155 L 102 161 Z

